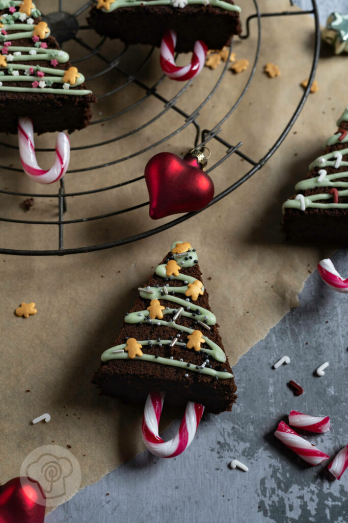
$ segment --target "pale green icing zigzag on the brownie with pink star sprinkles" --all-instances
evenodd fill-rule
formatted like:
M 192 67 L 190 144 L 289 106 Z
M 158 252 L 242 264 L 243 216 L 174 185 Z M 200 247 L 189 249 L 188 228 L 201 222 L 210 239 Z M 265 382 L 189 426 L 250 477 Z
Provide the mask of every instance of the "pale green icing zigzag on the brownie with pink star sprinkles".
M 9 7 L 18 7 L 22 4 L 22 0 L 0 0 L 0 9 L 8 9 Z M 34 5 L 34 4 L 33 4 Z M 15 20 L 17 20 L 22 14 L 18 11 L 13 14 L 4 14 L 0 17 L 2 22 L 4 23 L 4 27 L 0 29 L 9 30 L 9 31 L 18 31 L 16 33 L 11 33 L 10 35 L 3 35 L 0 34 L 0 46 L 1 42 L 9 42 L 13 40 L 20 40 L 20 39 L 32 39 L 33 31 L 35 29 L 35 26 L 33 24 L 16 24 Z M 27 16 L 27 18 L 37 18 L 40 16 L 40 11 L 35 8 L 32 10 L 30 17 Z M 49 33 L 46 33 L 45 38 L 47 38 L 50 35 Z M 31 52 L 34 52 L 34 54 L 30 54 Z M 81 85 L 83 82 L 85 82 L 85 77 L 79 72 L 79 77 L 76 78 L 76 82 L 74 85 L 69 85 L 69 88 L 56 88 L 51 87 L 53 83 L 55 84 L 64 84 L 63 77 L 66 73 L 66 71 L 61 69 L 55 69 L 53 67 L 35 67 L 32 65 L 26 65 L 26 64 L 20 64 L 17 62 L 26 62 L 26 61 L 35 61 L 35 60 L 56 60 L 58 63 L 66 63 L 69 61 L 69 54 L 65 51 L 61 51 L 58 49 L 43 49 L 36 46 L 8 46 L 7 47 L 8 54 L 4 54 L 6 57 L 7 65 L 5 67 L 0 68 L 0 73 L 3 73 L 4 71 L 9 71 L 10 74 L 1 75 L 1 83 L 0 83 L 0 91 L 10 91 L 10 92 L 18 92 L 18 93 L 51 93 L 51 94 L 64 94 L 64 95 L 75 95 L 75 96 L 82 96 L 82 95 L 88 95 L 91 94 L 91 91 L 89 89 L 76 89 L 77 86 Z M 26 53 L 26 54 L 12 54 L 12 53 Z M 34 76 L 32 74 L 24 74 L 24 75 L 14 75 L 13 71 L 28 71 L 30 68 L 34 71 L 42 71 L 45 73 L 45 76 Z M 46 76 L 47 74 L 47 76 Z M 31 85 L 28 87 L 16 87 L 16 86 L 5 86 L 3 85 L 6 82 L 29 82 L 32 84 L 32 82 L 45 82 L 46 87 L 32 87 Z

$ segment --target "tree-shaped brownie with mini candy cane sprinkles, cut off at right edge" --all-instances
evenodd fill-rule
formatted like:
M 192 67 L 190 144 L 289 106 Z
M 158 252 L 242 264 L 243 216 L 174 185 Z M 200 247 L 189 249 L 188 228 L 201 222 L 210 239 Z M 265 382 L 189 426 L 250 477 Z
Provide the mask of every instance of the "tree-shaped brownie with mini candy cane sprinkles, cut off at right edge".
M 305 180 L 283 204 L 283 230 L 301 241 L 348 244 L 348 108 L 325 154 L 309 165 Z

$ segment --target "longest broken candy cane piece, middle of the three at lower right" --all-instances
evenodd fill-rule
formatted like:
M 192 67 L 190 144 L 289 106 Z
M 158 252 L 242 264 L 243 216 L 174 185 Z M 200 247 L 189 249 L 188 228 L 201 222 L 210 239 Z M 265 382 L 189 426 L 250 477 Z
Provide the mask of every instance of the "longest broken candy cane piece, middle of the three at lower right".
M 310 465 L 319 465 L 322 461 L 330 458 L 328 454 L 321 452 L 321 450 L 317 449 L 317 447 L 309 443 L 309 441 L 303 439 L 284 422 L 280 422 L 274 436 L 280 439 L 286 447 Z

